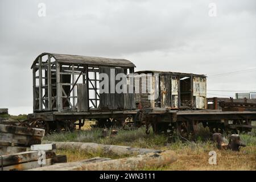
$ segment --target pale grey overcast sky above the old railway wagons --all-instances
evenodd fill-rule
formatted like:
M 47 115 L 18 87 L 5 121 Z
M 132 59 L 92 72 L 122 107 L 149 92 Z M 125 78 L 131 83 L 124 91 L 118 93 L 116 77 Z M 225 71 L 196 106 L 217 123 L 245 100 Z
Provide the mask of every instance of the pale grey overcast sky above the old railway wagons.
M 256 90 L 255 15 L 255 0 L 1 0 L 0 107 L 32 113 L 30 67 L 42 52 L 124 58 L 136 71 L 208 75 L 209 90 Z

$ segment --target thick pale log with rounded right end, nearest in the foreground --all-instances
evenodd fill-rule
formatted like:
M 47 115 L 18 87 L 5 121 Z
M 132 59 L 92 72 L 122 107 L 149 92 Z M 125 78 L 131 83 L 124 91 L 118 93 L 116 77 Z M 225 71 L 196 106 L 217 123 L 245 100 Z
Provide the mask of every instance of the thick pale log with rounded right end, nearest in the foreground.
M 160 167 L 174 163 L 177 155 L 174 151 L 151 152 L 144 155 L 138 155 L 123 159 L 105 160 L 96 163 L 67 163 L 58 166 L 42 167 L 34 170 L 52 170 L 52 171 L 130 171 L 146 167 Z

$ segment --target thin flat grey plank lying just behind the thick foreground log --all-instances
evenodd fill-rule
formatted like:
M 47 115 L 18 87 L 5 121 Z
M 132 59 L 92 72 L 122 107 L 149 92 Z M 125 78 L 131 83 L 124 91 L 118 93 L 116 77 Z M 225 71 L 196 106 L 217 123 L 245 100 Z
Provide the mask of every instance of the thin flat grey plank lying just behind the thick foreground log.
M 96 157 L 96 158 L 91 158 L 91 159 L 85 159 L 85 160 L 80 160 L 77 162 L 72 162 L 72 163 L 65 163 L 65 168 L 70 168 L 73 166 L 77 166 L 77 165 L 81 165 L 81 164 L 87 164 L 87 163 L 97 163 L 97 162 L 102 162 L 105 160 L 111 160 L 110 158 L 100 158 L 100 157 Z M 55 164 L 53 166 L 47 166 L 47 167 L 42 167 L 42 168 L 34 168 L 34 169 L 29 169 L 30 171 L 40 171 L 40 170 L 47 170 L 47 171 L 53 171 L 53 170 L 65 170 L 63 169 L 63 165 L 62 164 Z

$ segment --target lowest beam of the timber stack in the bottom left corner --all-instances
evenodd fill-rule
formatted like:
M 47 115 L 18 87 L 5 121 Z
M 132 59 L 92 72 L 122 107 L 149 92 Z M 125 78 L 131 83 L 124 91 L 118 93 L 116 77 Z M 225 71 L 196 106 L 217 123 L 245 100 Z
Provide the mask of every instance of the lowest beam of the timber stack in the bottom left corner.
M 39 164 L 38 160 L 35 160 L 32 162 L 15 164 L 13 166 L 6 166 L 6 167 L 3 167 L 2 169 L 3 171 L 22 171 L 22 170 L 27 170 L 32 168 L 39 168 L 42 166 L 51 166 L 55 163 L 66 163 L 66 162 L 67 162 L 67 156 L 56 155 L 53 158 L 46 159 L 46 164 L 44 165 Z

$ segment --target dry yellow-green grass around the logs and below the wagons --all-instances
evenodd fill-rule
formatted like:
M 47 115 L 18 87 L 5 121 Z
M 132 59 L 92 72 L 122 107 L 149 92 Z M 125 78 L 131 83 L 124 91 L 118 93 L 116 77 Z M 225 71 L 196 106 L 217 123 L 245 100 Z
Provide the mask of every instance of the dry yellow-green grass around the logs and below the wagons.
M 241 134 L 241 139 L 246 143 L 240 152 L 218 150 L 209 140 L 209 131 L 200 129 L 196 136 L 196 142 L 181 141 L 176 137 L 176 142 L 168 139 L 165 135 L 155 135 L 145 133 L 145 128 L 137 130 L 119 130 L 118 135 L 112 138 L 102 138 L 102 129 L 86 126 L 86 130 L 75 131 L 73 133 L 52 134 L 45 137 L 45 140 L 60 142 L 94 142 L 102 144 L 115 144 L 121 146 L 155 148 L 160 150 L 173 150 L 178 155 L 178 160 L 168 166 L 158 168 L 144 168 L 144 170 L 256 170 L 256 131 L 253 129 L 248 134 Z M 209 165 L 209 151 L 217 152 L 217 165 Z M 65 150 L 57 151 L 65 154 L 68 162 L 101 156 L 105 158 L 123 158 L 125 156 L 106 155 L 101 151 L 94 154 L 88 152 Z

